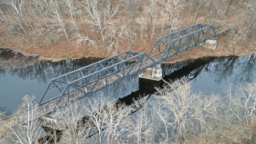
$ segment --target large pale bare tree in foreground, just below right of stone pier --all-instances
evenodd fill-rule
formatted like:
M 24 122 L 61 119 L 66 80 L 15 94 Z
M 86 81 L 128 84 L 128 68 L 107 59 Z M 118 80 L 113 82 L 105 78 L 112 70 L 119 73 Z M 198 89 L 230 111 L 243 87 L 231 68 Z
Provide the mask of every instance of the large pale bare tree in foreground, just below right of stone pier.
M 199 132 L 210 130 L 208 119 L 216 119 L 217 96 L 193 93 L 187 82 L 167 82 L 163 89 L 157 88 L 154 111 L 163 127 L 164 142 L 183 141 Z M 167 136 L 169 135 L 169 136 Z M 170 139 L 170 135 L 176 139 Z

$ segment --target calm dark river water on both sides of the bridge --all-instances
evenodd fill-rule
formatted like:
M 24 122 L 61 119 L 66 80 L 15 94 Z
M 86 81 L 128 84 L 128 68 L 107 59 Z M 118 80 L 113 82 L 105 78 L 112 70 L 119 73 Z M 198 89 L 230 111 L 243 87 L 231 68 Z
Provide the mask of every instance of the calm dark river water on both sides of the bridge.
M 6 107 L 9 112 L 15 111 L 25 94 L 36 96 L 36 101 L 39 102 L 50 79 L 98 60 L 100 59 L 67 59 L 59 62 L 39 62 L 17 69 L 0 69 L 0 107 Z M 161 67 L 166 80 L 186 77 L 191 80 L 194 91 L 222 94 L 223 88 L 227 85 L 237 86 L 240 82 L 250 82 L 256 78 L 256 54 L 243 57 L 201 58 L 172 65 L 162 64 Z M 104 93 L 118 98 L 138 88 L 138 75 L 134 75 L 93 95 Z M 52 96 L 57 94 L 59 93 L 51 92 Z M 46 100 L 47 98 L 51 97 L 46 97 Z

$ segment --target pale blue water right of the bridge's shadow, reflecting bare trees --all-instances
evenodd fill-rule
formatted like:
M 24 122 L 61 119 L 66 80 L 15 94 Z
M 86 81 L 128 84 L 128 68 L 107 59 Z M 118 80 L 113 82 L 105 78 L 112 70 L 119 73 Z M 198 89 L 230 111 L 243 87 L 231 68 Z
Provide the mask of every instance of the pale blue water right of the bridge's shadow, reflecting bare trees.
M 191 82 L 193 90 L 200 89 L 206 94 L 224 94 L 225 86 L 239 86 L 256 78 L 255 54 L 250 56 L 220 57 L 208 63 Z

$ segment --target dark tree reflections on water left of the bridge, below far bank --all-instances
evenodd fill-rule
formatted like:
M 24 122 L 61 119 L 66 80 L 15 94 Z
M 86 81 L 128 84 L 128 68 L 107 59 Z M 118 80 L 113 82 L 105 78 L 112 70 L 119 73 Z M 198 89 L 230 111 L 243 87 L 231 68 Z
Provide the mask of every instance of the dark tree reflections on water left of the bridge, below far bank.
M 17 75 L 21 79 L 36 79 L 39 84 L 42 84 L 47 83 L 49 79 L 80 69 L 99 60 L 99 58 L 81 58 L 60 60 L 58 62 L 42 61 L 27 67 L 0 69 L 0 75 L 1 77 Z

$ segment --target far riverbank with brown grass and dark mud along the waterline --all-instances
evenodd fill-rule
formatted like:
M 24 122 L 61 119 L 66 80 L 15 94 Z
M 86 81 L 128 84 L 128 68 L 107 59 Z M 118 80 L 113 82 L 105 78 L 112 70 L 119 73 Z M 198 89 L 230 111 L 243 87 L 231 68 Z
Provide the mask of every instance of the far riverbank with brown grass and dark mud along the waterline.
M 123 50 L 125 51 L 125 50 Z M 163 63 L 176 63 L 187 59 L 197 59 L 206 56 L 244 56 L 251 55 L 256 52 L 256 42 L 253 37 L 247 40 L 246 44 L 232 44 L 232 40 L 229 40 L 225 36 L 219 36 L 217 39 L 217 47 L 215 50 L 210 50 L 201 46 L 191 48 L 189 51 L 184 51 L 178 56 L 174 56 Z M 52 54 L 49 56 L 49 54 Z M 52 50 L 51 48 L 35 48 L 31 51 L 29 48 L 0 48 L 0 54 L 7 55 L 8 59 L 1 59 L 0 57 L 0 69 L 6 69 L 9 67 L 24 67 L 31 65 L 40 60 L 52 60 L 58 61 L 62 59 L 79 59 L 82 57 L 99 57 L 99 55 L 88 54 L 80 48 L 67 49 L 65 51 L 58 50 L 58 48 Z

